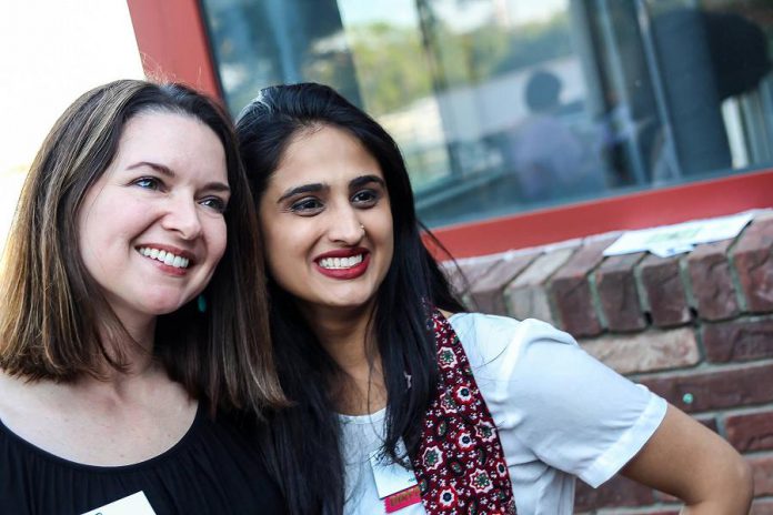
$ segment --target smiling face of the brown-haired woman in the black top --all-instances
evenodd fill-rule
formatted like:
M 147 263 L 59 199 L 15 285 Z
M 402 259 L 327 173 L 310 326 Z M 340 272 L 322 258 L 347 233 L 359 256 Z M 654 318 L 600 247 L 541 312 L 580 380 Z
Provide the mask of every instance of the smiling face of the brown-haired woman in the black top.
M 78 214 L 87 271 L 122 322 L 198 295 L 225 251 L 225 154 L 193 117 L 140 113 Z

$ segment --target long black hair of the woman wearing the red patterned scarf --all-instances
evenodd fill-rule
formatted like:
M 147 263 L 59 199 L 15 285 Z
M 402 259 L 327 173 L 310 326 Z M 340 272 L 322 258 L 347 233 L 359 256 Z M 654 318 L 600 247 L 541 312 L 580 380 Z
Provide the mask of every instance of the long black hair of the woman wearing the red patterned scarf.
M 333 89 L 315 83 L 265 88 L 237 122 L 240 151 L 260 201 L 283 152 L 299 131 L 348 131 L 375 158 L 392 205 L 394 258 L 379 287 L 372 334 L 388 394 L 384 452 L 404 463 L 412 455 L 435 392 L 438 366 L 431 309 L 462 311 L 422 239 L 405 163 L 394 140 Z M 429 234 L 429 232 L 426 233 Z M 431 238 L 431 235 L 425 238 Z M 297 514 L 338 514 L 343 507 L 340 424 L 333 395 L 341 371 L 322 349 L 294 300 L 269 277 L 272 340 L 280 381 L 293 407 L 272 414 L 274 473 Z M 406 386 L 405 374 L 411 376 Z

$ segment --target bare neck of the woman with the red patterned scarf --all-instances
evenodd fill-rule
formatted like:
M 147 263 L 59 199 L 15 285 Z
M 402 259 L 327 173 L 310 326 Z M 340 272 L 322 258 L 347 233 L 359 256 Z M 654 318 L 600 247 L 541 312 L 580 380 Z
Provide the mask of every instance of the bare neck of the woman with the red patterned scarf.
M 342 413 L 372 413 L 386 405 L 381 356 L 371 321 L 375 304 L 343 309 L 304 309 L 322 347 L 339 365 L 344 380 L 333 392 Z

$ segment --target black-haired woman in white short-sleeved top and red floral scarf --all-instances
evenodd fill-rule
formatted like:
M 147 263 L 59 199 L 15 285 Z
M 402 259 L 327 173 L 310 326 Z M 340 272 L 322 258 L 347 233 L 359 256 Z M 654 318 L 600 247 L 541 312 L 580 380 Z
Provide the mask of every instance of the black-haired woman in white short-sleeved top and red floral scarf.
M 272 87 L 237 134 L 259 203 L 274 354 L 269 415 L 292 513 L 568 514 L 616 472 L 744 513 L 719 436 L 536 321 L 464 313 L 419 231 L 394 141 L 320 84 Z

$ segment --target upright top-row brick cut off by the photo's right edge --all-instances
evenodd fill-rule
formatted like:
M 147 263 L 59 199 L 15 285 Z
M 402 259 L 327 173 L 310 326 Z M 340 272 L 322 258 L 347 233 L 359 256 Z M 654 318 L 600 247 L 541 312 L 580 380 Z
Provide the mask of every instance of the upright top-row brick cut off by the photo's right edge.
M 744 231 L 733 250 L 733 264 L 746 309 L 773 311 L 773 219 L 755 220 Z

